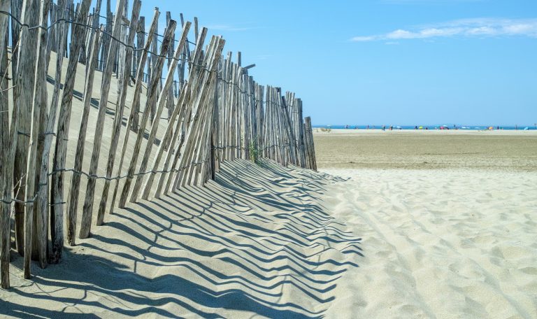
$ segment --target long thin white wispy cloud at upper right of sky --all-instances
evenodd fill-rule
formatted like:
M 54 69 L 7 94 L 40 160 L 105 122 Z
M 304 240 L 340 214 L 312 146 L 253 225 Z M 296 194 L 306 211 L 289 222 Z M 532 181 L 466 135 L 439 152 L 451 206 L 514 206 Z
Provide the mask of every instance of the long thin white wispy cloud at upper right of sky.
M 396 29 L 387 34 L 355 36 L 350 41 L 393 41 L 457 36 L 528 36 L 537 38 L 537 19 L 476 18 L 454 20 L 412 29 Z

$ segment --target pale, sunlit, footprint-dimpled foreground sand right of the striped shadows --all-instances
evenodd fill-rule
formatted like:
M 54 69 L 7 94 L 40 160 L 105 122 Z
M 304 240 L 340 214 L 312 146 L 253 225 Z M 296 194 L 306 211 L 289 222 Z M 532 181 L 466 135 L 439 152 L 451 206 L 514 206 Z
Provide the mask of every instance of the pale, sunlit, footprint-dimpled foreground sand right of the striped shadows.
M 327 171 L 365 255 L 329 317 L 537 318 L 536 173 Z

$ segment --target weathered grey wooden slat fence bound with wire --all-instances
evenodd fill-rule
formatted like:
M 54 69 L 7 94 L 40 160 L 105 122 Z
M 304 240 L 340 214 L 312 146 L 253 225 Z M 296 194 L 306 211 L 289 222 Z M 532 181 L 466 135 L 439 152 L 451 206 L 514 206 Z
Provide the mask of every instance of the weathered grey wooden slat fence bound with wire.
M 201 186 L 215 178 L 222 162 L 265 157 L 316 169 L 311 121 L 302 118 L 301 99 L 256 83 L 248 74 L 254 65 L 241 66 L 240 52 L 236 62 L 231 52 L 222 55 L 221 36 L 207 39 L 207 29 L 199 29 L 197 19 L 192 26 L 182 15 L 178 27 L 170 13 L 159 35 L 157 8 L 145 32 L 140 0 L 134 0 L 130 15 L 128 0 L 117 0 L 115 13 L 107 0 L 106 17 L 99 15 L 102 0 L 92 13 L 90 3 L 0 0 L 2 288 L 9 287 L 12 215 L 15 247 L 24 256 L 24 277 L 30 278 L 31 259 L 43 268 L 59 262 L 64 241 L 75 245 L 77 230 L 81 239 L 90 236 L 92 220 L 99 226 L 106 213 L 124 208 L 127 201 Z M 48 74 L 51 59 L 56 62 L 53 78 Z M 80 128 L 78 136 L 69 136 L 80 68 L 85 69 L 83 107 L 80 120 L 73 119 Z M 97 74 L 101 83 L 96 83 Z M 116 90 L 115 105 L 110 90 Z M 89 120 L 94 92 L 100 95 L 95 123 Z M 127 96 L 131 104 L 124 123 Z M 106 127 L 111 136 L 103 139 L 105 125 L 110 125 L 108 104 L 115 113 L 112 127 Z M 76 139 L 76 148 L 68 149 L 70 139 Z M 109 151 L 101 158 L 103 145 Z M 66 167 L 68 158 L 72 167 Z M 99 176 L 103 162 L 106 175 Z M 81 178 L 87 178 L 84 192 Z M 103 187 L 96 194 L 98 181 Z M 85 198 L 78 218 L 80 194 Z

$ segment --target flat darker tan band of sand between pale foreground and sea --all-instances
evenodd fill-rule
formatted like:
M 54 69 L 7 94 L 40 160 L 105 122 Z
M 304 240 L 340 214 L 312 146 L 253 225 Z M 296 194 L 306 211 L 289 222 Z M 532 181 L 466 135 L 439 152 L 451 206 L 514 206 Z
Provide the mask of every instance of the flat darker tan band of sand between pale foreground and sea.
M 537 131 L 314 129 L 319 167 L 537 171 Z

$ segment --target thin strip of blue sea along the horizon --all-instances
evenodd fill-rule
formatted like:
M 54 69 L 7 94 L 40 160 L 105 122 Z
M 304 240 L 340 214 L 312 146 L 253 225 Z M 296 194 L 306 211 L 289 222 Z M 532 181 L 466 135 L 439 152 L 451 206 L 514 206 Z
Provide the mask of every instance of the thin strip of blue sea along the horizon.
M 382 129 L 382 125 L 312 125 L 313 128 L 324 129 Z M 501 125 L 392 125 L 393 129 L 508 129 L 508 130 L 537 130 L 535 125 L 516 125 L 516 126 L 501 126 Z M 385 125 L 385 129 L 389 129 L 389 125 Z

